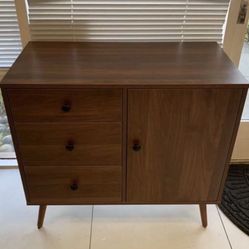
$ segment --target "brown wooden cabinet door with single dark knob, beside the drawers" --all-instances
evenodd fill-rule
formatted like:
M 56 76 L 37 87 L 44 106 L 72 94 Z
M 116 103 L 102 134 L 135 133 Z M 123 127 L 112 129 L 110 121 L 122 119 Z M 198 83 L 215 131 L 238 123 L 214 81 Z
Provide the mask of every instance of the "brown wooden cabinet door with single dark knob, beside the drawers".
M 240 89 L 128 91 L 127 201 L 215 202 Z

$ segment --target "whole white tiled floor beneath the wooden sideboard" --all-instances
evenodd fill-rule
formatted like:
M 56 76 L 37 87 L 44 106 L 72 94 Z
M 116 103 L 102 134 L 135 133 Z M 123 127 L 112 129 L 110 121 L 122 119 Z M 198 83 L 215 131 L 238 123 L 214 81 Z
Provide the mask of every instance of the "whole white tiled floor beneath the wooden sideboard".
M 49 206 L 36 228 L 37 207 L 26 206 L 17 169 L 0 170 L 1 249 L 248 249 L 215 205 L 208 228 L 197 206 Z

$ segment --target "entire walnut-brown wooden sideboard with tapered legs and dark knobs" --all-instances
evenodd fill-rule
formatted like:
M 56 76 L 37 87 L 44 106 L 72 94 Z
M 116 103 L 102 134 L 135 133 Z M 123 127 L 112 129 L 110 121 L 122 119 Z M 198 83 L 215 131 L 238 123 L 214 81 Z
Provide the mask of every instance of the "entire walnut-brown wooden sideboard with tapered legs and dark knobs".
M 1 82 L 28 205 L 219 203 L 248 83 L 219 45 L 30 42 Z

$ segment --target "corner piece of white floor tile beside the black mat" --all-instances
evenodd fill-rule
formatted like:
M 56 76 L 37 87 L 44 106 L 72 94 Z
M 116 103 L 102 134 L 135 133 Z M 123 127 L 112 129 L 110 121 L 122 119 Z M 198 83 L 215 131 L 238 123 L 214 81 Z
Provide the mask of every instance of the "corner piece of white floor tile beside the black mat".
M 221 219 L 229 237 L 233 249 L 248 249 L 249 236 L 240 231 L 223 213 L 219 210 Z

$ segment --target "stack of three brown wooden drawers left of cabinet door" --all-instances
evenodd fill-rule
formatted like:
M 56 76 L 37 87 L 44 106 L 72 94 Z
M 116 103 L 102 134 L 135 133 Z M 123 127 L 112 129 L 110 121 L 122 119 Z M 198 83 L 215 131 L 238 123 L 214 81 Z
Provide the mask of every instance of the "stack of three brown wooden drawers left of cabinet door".
M 7 95 L 29 204 L 121 201 L 122 90 Z

